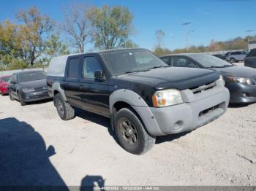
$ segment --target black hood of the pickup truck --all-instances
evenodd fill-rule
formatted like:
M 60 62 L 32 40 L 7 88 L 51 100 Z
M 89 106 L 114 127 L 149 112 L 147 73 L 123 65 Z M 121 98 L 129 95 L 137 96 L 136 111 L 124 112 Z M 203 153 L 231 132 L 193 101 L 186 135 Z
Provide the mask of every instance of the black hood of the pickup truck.
M 123 74 L 118 76 L 118 79 L 151 85 L 156 90 L 167 88 L 185 90 L 214 82 L 219 79 L 219 74 L 208 69 L 167 67 Z

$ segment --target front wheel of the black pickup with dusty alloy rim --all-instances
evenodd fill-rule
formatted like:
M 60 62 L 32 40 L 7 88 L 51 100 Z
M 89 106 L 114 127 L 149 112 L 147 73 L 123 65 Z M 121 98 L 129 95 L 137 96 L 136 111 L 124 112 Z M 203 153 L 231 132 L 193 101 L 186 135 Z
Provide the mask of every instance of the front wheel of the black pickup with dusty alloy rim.
M 148 134 L 132 109 L 120 109 L 116 113 L 114 125 L 118 143 L 127 152 L 142 155 L 154 146 L 156 137 Z

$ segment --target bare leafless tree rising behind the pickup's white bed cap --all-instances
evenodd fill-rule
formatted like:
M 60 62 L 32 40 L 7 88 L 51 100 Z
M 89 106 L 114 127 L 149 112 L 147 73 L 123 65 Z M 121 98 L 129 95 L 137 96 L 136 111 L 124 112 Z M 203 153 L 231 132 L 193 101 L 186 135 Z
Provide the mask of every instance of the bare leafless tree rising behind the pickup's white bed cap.
M 84 52 L 84 47 L 91 42 L 93 27 L 89 20 L 89 9 L 86 4 L 72 4 L 70 9 L 64 11 L 65 23 L 61 25 L 61 29 L 70 37 L 73 47 L 79 52 Z

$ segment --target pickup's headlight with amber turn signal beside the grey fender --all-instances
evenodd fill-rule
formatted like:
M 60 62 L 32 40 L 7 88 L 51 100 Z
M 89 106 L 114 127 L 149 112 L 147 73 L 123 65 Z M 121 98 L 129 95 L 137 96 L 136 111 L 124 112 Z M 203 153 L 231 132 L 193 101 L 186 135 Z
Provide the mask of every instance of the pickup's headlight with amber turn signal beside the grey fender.
M 183 99 L 179 90 L 159 90 L 153 95 L 153 105 L 155 107 L 173 106 L 176 104 L 182 104 Z

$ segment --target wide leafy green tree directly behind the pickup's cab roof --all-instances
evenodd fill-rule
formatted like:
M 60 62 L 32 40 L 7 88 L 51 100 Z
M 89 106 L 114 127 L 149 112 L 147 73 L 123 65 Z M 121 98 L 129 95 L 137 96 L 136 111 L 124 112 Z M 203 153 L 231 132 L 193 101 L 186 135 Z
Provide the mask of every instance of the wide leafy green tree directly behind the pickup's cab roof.
M 133 33 L 133 16 L 127 7 L 92 8 L 89 17 L 94 26 L 94 47 L 113 49 L 134 45 L 129 39 Z

